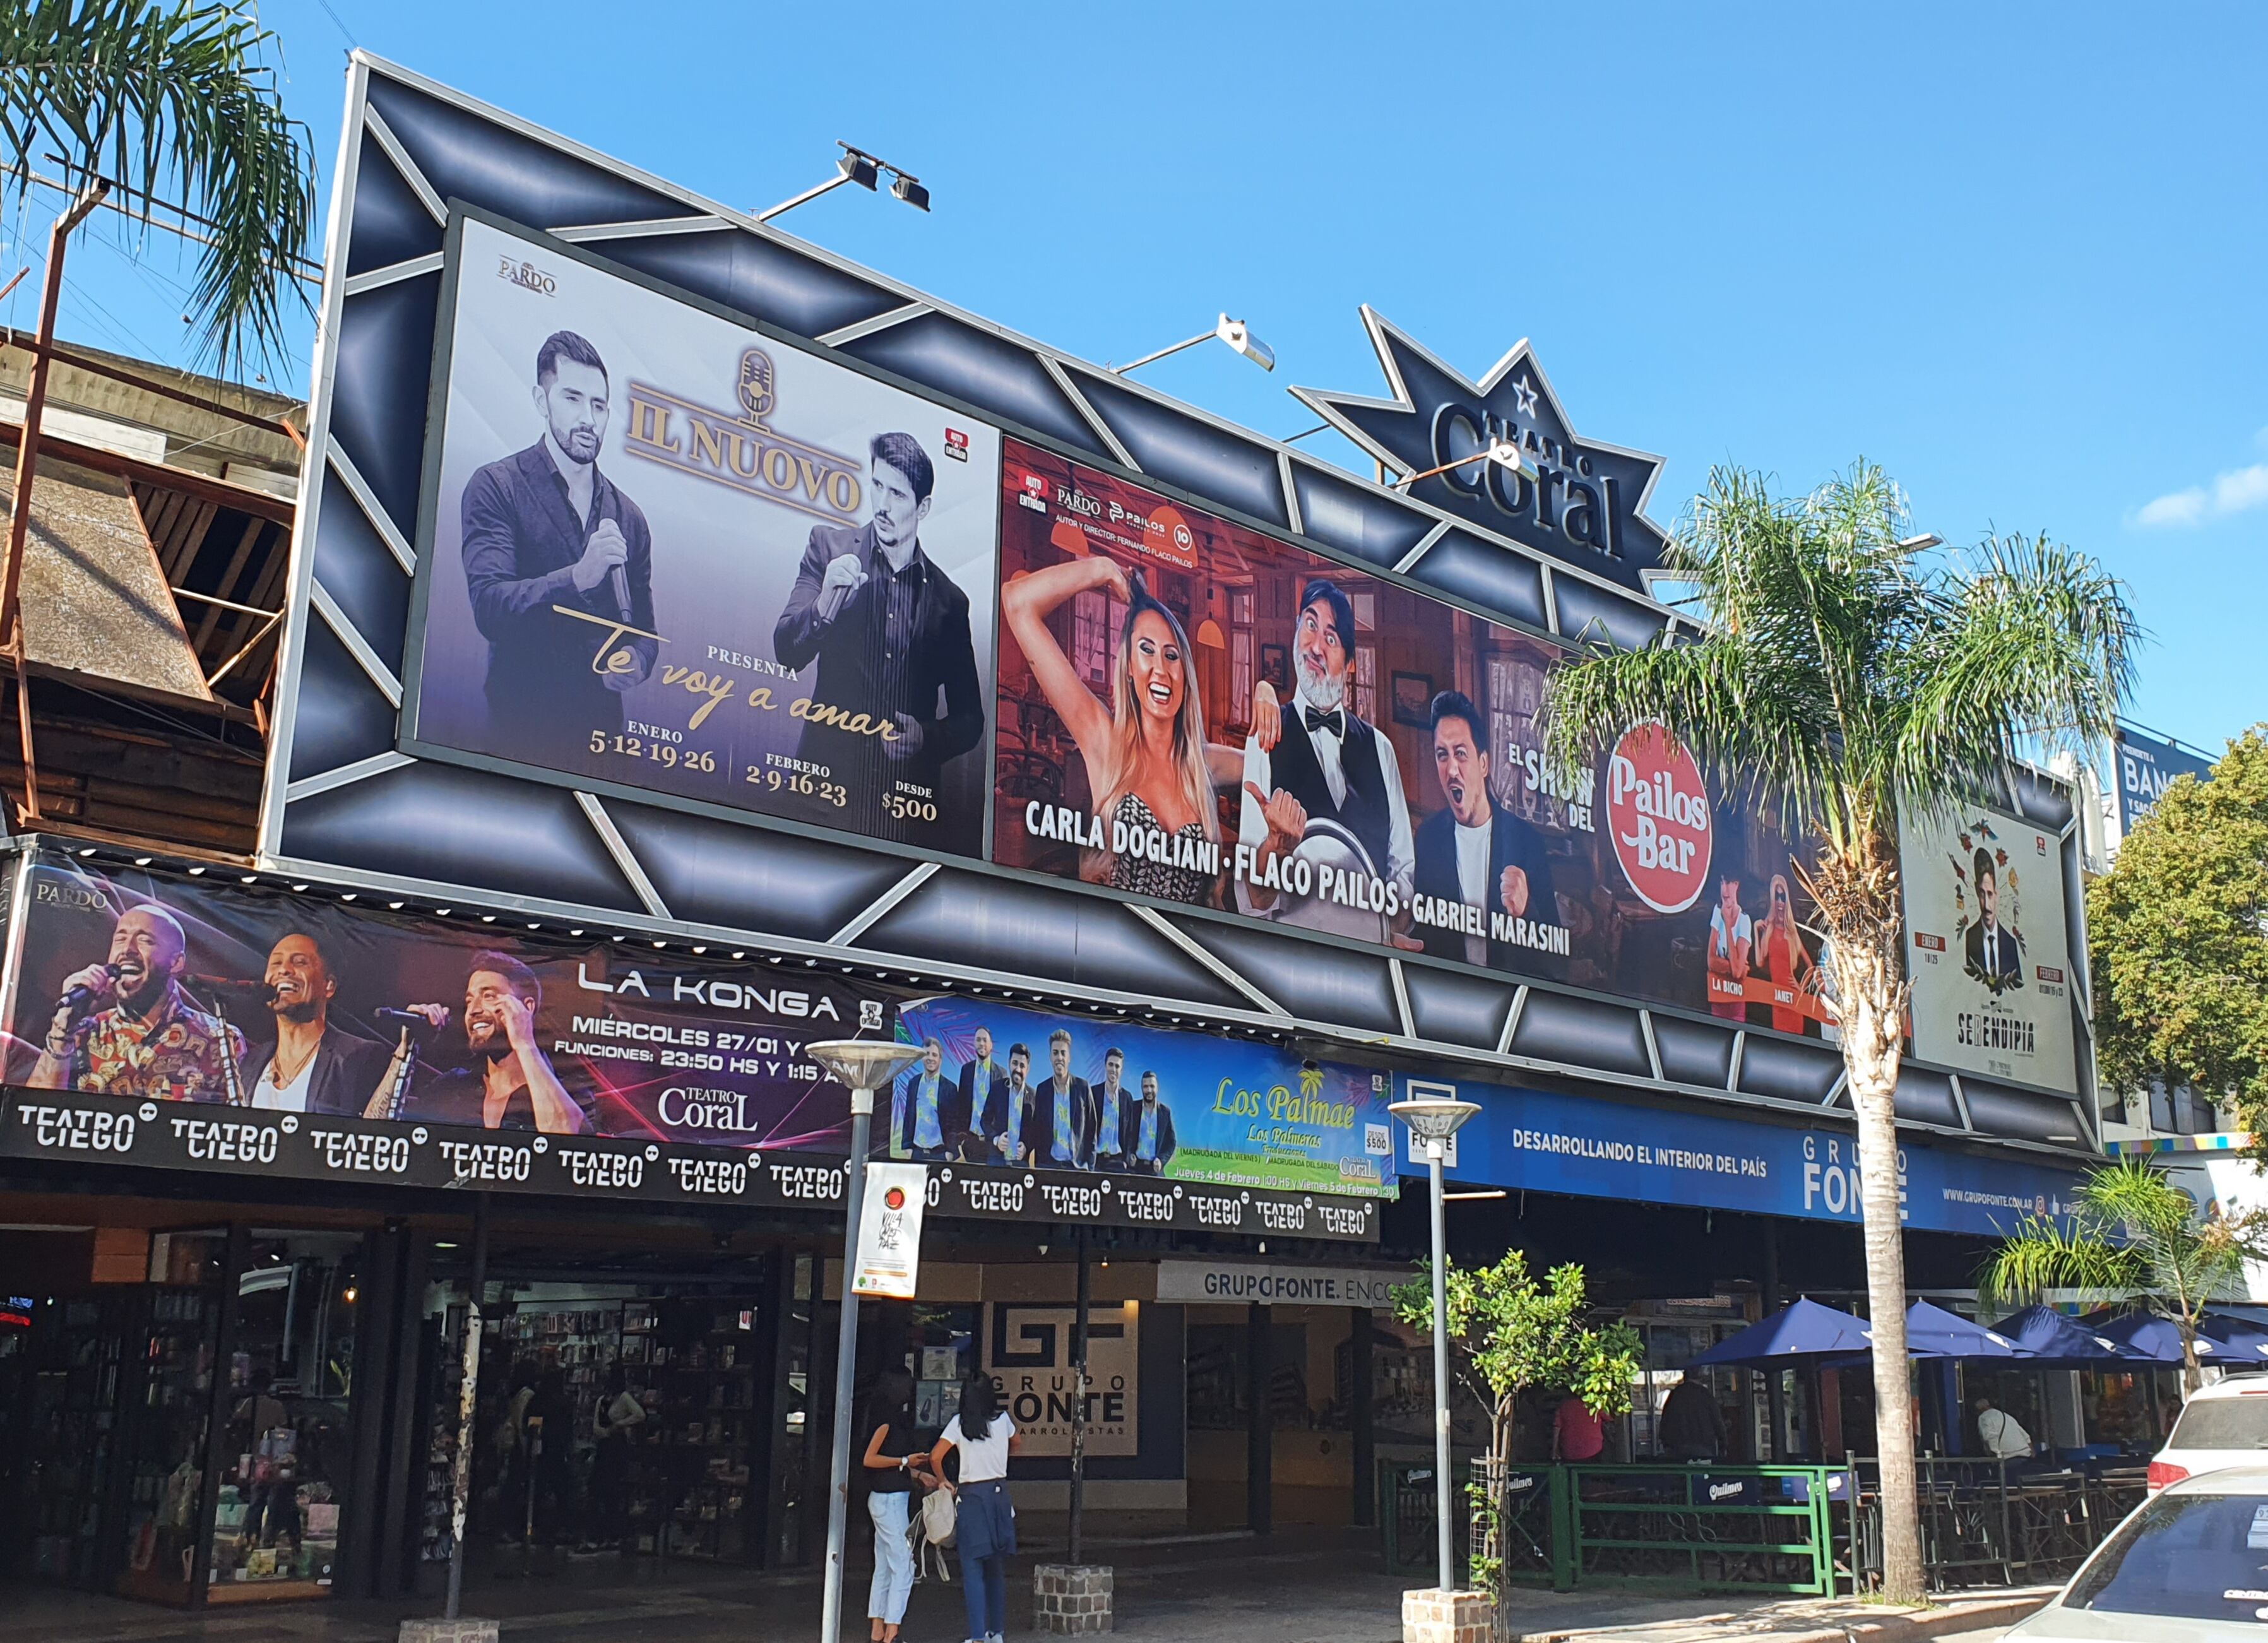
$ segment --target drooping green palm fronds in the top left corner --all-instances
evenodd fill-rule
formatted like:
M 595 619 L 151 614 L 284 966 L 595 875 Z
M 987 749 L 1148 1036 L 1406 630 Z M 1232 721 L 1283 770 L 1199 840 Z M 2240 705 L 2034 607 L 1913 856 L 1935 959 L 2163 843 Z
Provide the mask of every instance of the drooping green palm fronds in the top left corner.
M 315 213 L 306 127 L 284 116 L 261 61 L 272 45 L 243 0 L 0 5 L 0 141 L 16 188 L 59 161 L 79 186 L 120 188 L 136 213 L 179 195 L 202 218 L 191 304 L 222 372 L 284 349 L 279 275 L 302 261 Z

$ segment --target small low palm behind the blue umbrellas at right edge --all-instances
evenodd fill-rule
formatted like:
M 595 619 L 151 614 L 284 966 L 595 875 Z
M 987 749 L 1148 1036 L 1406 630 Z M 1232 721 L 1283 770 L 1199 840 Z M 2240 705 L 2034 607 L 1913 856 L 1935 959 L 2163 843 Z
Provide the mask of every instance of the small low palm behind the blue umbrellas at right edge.
M 1984 1259 L 1978 1298 L 2030 1305 L 2050 1289 L 2087 1300 L 2155 1312 L 2182 1332 L 2182 1391 L 2204 1380 L 2198 1325 L 2225 1294 L 2243 1294 L 2248 1259 L 2263 1259 L 2268 1212 L 2223 1214 L 2198 1207 L 2166 1171 L 2141 1157 L 2096 1169 L 2068 1221 L 2030 1214 Z

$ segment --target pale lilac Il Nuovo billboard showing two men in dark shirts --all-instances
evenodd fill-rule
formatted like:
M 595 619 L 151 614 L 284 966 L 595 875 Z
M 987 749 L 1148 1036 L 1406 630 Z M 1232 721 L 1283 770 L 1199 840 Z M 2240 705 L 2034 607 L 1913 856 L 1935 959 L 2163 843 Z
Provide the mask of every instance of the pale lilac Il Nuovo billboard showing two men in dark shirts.
M 406 751 L 984 833 L 998 433 L 456 218 Z

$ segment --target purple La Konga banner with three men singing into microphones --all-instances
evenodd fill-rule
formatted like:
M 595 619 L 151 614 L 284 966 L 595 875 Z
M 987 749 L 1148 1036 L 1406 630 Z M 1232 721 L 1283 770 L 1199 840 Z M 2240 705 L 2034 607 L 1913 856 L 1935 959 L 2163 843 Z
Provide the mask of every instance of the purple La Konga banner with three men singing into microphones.
M 417 926 L 39 858 L 7 1082 L 460 1132 L 848 1148 L 814 1039 L 891 1003 L 762 962 Z

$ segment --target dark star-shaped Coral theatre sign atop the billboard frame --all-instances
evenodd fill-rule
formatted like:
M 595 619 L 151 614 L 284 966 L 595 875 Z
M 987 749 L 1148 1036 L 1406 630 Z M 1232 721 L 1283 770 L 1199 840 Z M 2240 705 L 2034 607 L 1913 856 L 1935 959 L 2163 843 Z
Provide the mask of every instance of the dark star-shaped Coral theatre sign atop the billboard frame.
M 1667 547 L 1647 517 L 1660 456 L 1579 438 L 1526 340 L 1472 381 L 1368 304 L 1363 325 L 1393 399 L 1293 388 L 1315 415 L 1395 472 L 1424 474 L 1411 497 L 1644 590 Z M 1520 470 L 1488 461 L 1501 440 L 1520 447 Z

